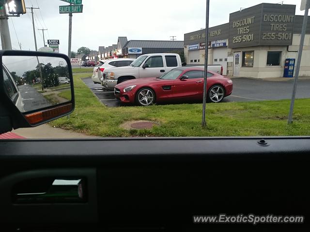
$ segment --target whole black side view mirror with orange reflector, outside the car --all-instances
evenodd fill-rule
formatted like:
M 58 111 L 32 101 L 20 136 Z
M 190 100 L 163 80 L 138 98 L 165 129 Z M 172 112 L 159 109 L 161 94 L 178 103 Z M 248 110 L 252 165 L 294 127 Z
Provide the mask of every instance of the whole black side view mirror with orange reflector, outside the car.
M 0 51 L 0 62 L 0 103 L 6 106 L 11 130 L 35 127 L 73 112 L 73 76 L 66 55 Z

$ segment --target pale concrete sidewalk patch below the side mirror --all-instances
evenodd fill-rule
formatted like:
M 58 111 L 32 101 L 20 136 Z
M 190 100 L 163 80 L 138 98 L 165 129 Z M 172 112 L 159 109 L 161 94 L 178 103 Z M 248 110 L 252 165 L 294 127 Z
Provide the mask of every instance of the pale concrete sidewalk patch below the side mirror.
M 95 138 L 94 136 L 50 127 L 47 124 L 33 128 L 20 128 L 12 132 L 27 139 Z

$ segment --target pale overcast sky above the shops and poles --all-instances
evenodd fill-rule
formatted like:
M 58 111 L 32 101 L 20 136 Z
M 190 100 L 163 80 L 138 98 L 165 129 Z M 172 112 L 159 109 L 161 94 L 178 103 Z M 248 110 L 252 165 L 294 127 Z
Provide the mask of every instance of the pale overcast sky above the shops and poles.
M 210 0 L 210 27 L 229 22 L 229 14 L 262 2 L 279 0 Z M 43 47 L 42 31 L 47 39 L 60 40 L 60 52 L 68 52 L 68 14 L 59 14 L 61 0 L 25 0 L 26 7 L 34 10 L 38 48 Z M 284 4 L 297 4 L 300 0 L 284 0 Z M 86 46 L 98 50 L 99 46 L 117 43 L 119 36 L 128 40 L 184 40 L 184 33 L 205 27 L 205 0 L 83 0 L 83 13 L 73 14 L 72 51 Z M 16 29 L 13 28 L 13 23 Z M 23 50 L 35 50 L 31 13 L 11 17 L 9 27 L 13 49 L 19 49 L 16 34 Z

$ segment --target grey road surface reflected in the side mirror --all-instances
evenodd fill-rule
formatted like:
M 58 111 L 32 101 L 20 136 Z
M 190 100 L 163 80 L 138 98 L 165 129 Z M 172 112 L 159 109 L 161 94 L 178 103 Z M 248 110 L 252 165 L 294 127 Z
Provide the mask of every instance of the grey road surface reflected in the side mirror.
M 41 93 L 30 85 L 18 86 L 26 112 L 41 109 L 52 104 Z

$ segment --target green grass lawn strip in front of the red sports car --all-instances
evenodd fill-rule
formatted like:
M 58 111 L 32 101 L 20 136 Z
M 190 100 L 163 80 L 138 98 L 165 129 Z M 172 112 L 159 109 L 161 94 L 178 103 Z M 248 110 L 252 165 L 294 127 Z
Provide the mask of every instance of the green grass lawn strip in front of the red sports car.
M 81 78 L 74 74 L 76 109 L 70 118 L 52 125 L 103 137 L 127 136 L 269 136 L 309 135 L 310 99 L 295 101 L 294 123 L 287 125 L 290 101 L 226 102 L 207 104 L 207 127 L 202 129 L 202 104 L 129 106 L 108 108 L 101 104 Z M 65 94 L 65 93 L 64 93 Z M 151 120 L 150 130 L 124 130 L 129 120 Z

